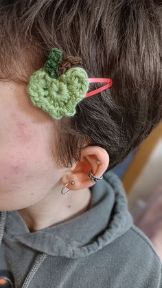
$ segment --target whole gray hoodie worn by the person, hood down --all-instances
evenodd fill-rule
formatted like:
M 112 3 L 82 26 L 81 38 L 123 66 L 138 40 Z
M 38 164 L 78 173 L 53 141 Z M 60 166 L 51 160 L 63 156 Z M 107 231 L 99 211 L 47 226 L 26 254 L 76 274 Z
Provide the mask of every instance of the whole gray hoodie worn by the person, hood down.
M 132 224 L 119 178 L 104 173 L 91 192 L 88 211 L 38 232 L 16 210 L 1 212 L 0 288 L 162 288 L 161 261 Z

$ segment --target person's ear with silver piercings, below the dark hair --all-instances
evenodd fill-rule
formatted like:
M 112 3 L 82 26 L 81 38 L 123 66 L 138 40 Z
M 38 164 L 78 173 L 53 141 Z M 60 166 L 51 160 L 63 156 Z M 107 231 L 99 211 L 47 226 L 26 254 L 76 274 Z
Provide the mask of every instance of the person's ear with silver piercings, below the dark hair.
M 97 160 L 100 161 L 100 164 L 97 164 Z M 65 173 L 61 179 L 62 184 L 65 185 L 74 181 L 75 184 L 67 185 L 67 188 L 71 190 L 91 187 L 95 182 L 89 179 L 89 172 L 92 170 L 94 176 L 100 177 L 108 168 L 108 164 L 109 156 L 104 148 L 99 146 L 87 146 L 86 148 L 82 148 L 80 161 L 73 170 L 68 170 Z

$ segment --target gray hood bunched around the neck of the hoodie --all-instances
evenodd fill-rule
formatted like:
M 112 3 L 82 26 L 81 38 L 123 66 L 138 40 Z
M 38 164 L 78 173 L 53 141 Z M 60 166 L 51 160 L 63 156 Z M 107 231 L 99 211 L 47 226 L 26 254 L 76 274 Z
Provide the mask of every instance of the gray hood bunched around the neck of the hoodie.
M 87 256 L 115 241 L 132 226 L 127 199 L 119 178 L 112 172 L 91 188 L 89 210 L 75 219 L 30 232 L 19 212 L 1 212 L 0 241 L 13 241 L 51 256 Z

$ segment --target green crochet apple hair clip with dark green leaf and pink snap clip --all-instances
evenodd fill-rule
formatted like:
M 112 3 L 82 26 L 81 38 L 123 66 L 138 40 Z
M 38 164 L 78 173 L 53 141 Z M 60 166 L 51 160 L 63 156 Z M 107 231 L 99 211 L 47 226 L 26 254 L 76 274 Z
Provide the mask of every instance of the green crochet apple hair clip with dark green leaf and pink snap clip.
M 95 95 L 113 85 L 110 78 L 88 78 L 82 67 L 72 67 L 58 76 L 62 51 L 52 48 L 43 68 L 30 76 L 27 92 L 34 106 L 43 109 L 51 118 L 61 119 L 76 114 L 76 105 L 83 98 Z M 107 84 L 88 92 L 89 82 Z

